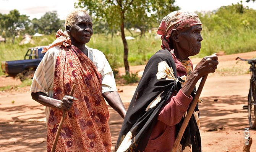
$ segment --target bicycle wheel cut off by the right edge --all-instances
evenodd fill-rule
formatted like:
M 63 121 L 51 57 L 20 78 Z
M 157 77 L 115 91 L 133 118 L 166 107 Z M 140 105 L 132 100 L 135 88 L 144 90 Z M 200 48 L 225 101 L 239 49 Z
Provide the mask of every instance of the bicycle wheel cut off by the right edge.
M 248 95 L 248 118 L 252 129 L 256 128 L 256 82 L 252 82 Z

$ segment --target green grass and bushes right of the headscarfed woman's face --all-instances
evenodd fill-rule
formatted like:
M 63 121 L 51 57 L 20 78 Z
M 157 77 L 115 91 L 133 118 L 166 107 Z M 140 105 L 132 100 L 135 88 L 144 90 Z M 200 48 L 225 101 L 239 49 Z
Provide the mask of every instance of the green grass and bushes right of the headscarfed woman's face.
M 197 57 L 219 51 L 226 54 L 255 51 L 256 10 L 237 3 L 197 14 L 203 24 L 202 48 Z

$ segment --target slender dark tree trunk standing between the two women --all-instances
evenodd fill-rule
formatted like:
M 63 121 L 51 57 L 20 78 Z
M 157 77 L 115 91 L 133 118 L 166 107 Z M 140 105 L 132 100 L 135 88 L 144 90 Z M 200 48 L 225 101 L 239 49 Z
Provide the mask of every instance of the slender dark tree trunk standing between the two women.
M 122 24 L 121 24 L 121 34 L 122 34 L 123 47 L 124 47 L 123 63 L 125 65 L 125 73 L 126 73 L 126 72 L 130 72 L 130 67 L 129 67 L 129 63 L 128 63 L 128 44 L 127 44 L 127 41 L 125 39 L 125 26 L 124 26 L 123 21 L 122 21 Z

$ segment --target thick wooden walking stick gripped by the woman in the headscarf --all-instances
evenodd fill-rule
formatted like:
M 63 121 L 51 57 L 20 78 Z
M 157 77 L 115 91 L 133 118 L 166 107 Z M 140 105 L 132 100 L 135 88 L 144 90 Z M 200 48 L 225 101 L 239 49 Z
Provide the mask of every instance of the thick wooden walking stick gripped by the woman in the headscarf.
M 206 81 L 207 75 L 203 76 L 203 78 L 202 78 L 202 80 L 201 80 L 201 82 L 199 84 L 199 87 L 198 87 L 198 90 L 196 92 L 196 95 L 193 98 L 191 106 L 188 109 L 188 113 L 187 113 L 187 115 L 186 115 L 186 117 L 185 117 L 185 119 L 184 119 L 184 121 L 183 121 L 183 123 L 182 123 L 182 125 L 180 127 L 180 131 L 178 132 L 177 138 L 176 138 L 176 140 L 174 142 L 174 145 L 172 147 L 172 152 L 177 152 L 177 148 L 178 148 L 178 146 L 180 144 L 180 140 L 181 140 L 181 138 L 183 136 L 183 133 L 184 133 L 184 131 L 185 131 L 187 125 L 188 125 L 188 122 L 189 122 L 189 120 L 190 120 L 190 118 L 191 118 L 191 116 L 192 116 L 192 114 L 194 112 L 194 108 L 196 108 L 196 104 L 197 104 L 199 96 L 200 96 L 200 94 L 201 94 L 201 92 L 203 90 L 204 83 Z

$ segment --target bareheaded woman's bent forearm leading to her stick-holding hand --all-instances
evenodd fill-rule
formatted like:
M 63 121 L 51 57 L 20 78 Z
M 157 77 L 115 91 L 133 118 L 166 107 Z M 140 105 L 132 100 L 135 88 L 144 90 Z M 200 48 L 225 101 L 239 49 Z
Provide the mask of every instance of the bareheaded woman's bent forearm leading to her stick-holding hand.
M 61 100 L 50 98 L 43 92 L 32 92 L 31 96 L 33 100 L 36 100 L 44 106 L 53 107 L 60 110 L 60 104 L 62 102 Z

